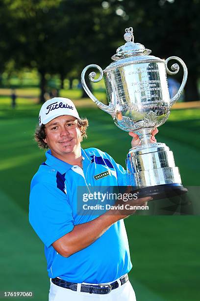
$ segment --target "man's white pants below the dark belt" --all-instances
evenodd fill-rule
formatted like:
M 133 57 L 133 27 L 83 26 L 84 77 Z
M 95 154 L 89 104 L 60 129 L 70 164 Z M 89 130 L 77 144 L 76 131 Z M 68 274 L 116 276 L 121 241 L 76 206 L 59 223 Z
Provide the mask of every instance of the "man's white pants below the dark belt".
M 122 286 L 120 281 L 118 283 L 120 283 L 118 288 L 109 294 L 100 295 L 72 291 L 53 284 L 50 279 L 49 301 L 136 301 L 130 281 L 128 280 Z

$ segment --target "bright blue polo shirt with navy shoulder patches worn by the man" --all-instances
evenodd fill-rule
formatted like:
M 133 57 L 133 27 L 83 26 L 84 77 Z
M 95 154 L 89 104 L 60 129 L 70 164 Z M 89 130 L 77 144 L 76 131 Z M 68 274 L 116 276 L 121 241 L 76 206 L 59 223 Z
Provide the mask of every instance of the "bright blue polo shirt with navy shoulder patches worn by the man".
M 124 220 L 114 223 L 88 247 L 63 257 L 52 243 L 71 232 L 75 225 L 96 218 L 78 214 L 77 186 L 123 186 L 127 174 L 107 153 L 95 148 L 81 149 L 83 169 L 46 152 L 47 160 L 34 175 L 30 187 L 29 221 L 45 244 L 50 278 L 75 283 L 106 283 L 120 278 L 132 268 Z M 108 172 L 107 172 L 108 171 Z M 106 173 L 106 177 L 94 176 Z

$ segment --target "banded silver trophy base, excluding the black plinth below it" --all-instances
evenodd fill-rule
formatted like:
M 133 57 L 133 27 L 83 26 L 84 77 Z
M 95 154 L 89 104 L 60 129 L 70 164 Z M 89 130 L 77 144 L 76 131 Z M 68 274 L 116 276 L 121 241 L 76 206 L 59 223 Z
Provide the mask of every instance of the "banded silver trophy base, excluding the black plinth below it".
M 126 169 L 131 186 L 182 185 L 173 152 L 164 143 L 131 149 L 127 154 Z

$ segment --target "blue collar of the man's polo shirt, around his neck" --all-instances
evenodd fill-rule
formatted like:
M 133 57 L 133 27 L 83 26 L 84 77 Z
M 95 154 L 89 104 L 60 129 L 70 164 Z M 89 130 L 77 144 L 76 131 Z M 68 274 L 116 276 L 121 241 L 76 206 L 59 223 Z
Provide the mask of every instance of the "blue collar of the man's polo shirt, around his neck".
M 83 149 L 81 149 L 81 154 L 82 154 L 82 158 L 84 161 L 92 160 L 92 158 L 89 158 Z M 47 157 L 46 164 L 49 165 L 50 167 L 56 169 L 57 171 L 59 171 L 59 173 L 61 173 L 62 175 L 74 166 L 74 165 L 71 165 L 67 162 L 64 162 L 64 161 L 54 157 L 51 154 L 50 150 L 46 151 L 46 157 Z

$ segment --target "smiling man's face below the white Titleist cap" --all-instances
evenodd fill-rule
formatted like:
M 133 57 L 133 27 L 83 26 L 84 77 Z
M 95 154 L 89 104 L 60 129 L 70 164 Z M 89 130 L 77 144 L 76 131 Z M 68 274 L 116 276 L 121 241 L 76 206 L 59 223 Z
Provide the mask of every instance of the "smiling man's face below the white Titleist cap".
M 77 119 L 70 115 L 59 116 L 45 125 L 46 138 L 52 155 L 62 157 L 80 149 L 81 132 Z

